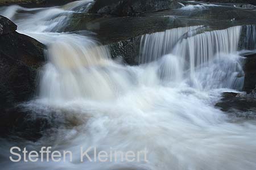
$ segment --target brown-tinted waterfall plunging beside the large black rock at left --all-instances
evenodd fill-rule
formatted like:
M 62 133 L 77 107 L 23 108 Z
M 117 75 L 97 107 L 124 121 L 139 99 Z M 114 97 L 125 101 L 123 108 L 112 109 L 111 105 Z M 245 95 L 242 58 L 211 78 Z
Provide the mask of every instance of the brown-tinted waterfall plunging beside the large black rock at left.
M 48 45 L 47 57 L 40 85 L 43 99 L 53 103 L 111 95 L 110 80 L 97 71 L 109 65 L 109 50 L 90 37 L 61 35 Z

